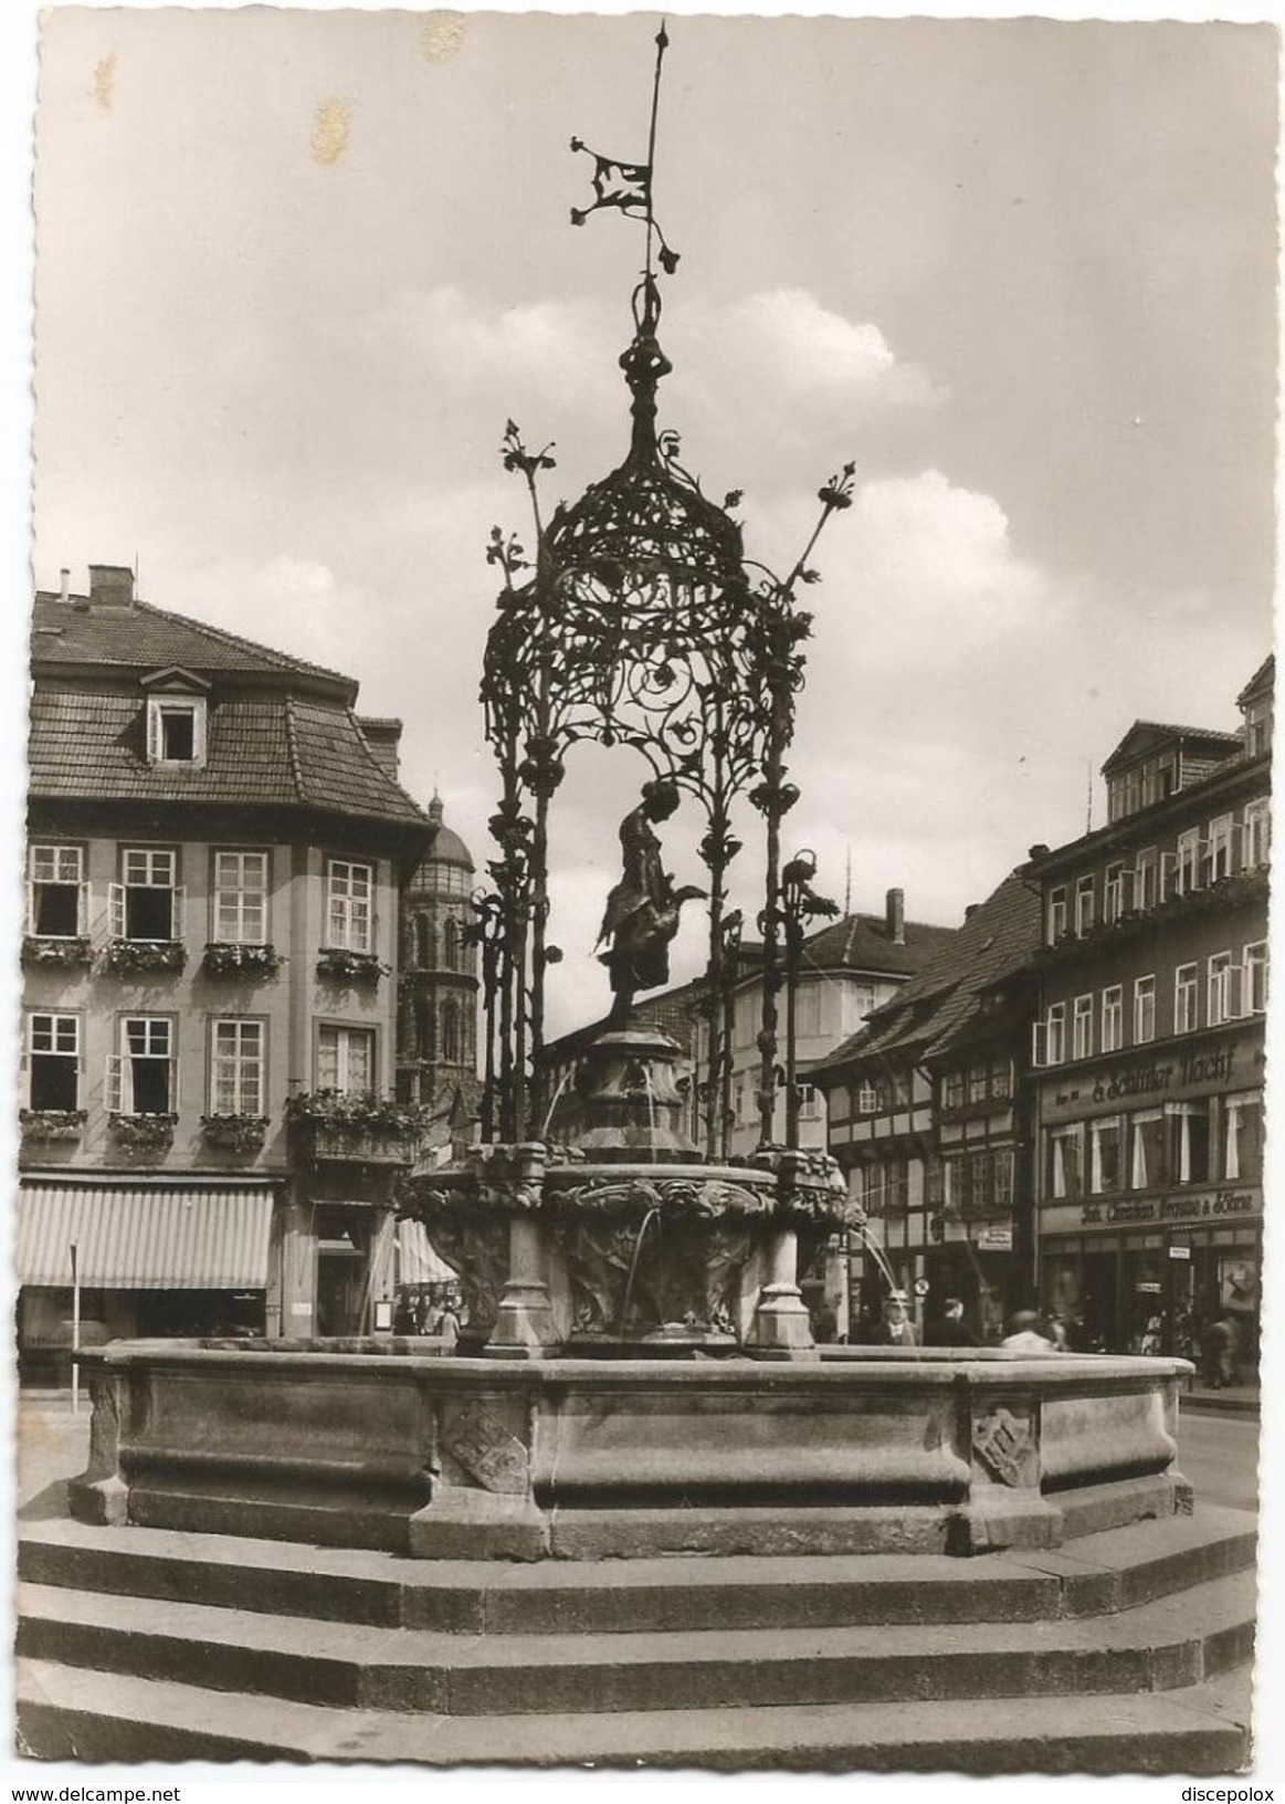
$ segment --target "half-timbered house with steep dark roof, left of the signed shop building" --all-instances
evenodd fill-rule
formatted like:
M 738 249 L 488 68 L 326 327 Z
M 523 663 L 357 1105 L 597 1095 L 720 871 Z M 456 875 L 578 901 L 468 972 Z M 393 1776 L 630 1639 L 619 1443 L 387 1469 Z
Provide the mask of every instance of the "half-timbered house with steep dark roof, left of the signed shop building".
M 1006 877 L 932 962 L 813 1072 L 829 1151 L 869 1216 L 851 1248 L 852 1335 L 889 1288 L 923 1322 L 948 1295 L 995 1340 L 1029 1295 L 1033 1173 L 1029 1039 L 1038 897 Z

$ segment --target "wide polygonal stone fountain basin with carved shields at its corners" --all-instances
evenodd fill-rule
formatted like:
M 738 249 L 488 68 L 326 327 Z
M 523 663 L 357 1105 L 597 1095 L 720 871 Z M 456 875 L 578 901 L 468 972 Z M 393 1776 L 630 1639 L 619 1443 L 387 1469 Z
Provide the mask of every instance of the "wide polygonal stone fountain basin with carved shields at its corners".
M 124 1340 L 81 1364 L 70 1506 L 92 1523 L 532 1560 L 1049 1548 L 1191 1506 L 1173 1358 L 497 1360 L 371 1339 Z

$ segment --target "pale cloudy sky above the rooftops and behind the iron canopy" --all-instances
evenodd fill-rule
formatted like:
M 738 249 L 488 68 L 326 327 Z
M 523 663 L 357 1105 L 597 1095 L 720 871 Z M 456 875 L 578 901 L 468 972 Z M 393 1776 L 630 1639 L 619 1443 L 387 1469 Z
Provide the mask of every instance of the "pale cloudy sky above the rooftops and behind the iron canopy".
M 656 20 L 47 14 L 36 135 L 34 575 L 350 671 L 487 855 L 492 523 L 627 446 L 642 229 L 579 133 L 645 153 Z M 656 207 L 660 424 L 753 556 L 793 563 L 856 460 L 786 851 L 955 924 L 1101 821 L 1134 718 L 1229 727 L 1269 648 L 1276 40 L 1265 25 L 679 18 Z M 580 749 L 553 819 L 553 1030 L 645 770 Z M 1092 781 L 1090 781 L 1092 779 Z M 748 824 L 748 823 L 746 823 Z M 667 830 L 699 880 L 690 808 Z M 755 853 L 734 870 L 753 916 Z M 674 976 L 697 969 L 688 918 Z

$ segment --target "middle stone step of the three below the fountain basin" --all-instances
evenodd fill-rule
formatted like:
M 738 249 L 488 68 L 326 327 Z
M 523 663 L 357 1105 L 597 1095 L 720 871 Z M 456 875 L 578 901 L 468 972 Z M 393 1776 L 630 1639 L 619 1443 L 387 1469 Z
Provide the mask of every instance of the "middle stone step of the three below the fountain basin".
M 1249 1658 L 1254 1575 L 1108 1616 L 843 1629 L 451 1634 L 23 1582 L 18 1652 L 68 1667 L 440 1716 L 1171 1690 Z

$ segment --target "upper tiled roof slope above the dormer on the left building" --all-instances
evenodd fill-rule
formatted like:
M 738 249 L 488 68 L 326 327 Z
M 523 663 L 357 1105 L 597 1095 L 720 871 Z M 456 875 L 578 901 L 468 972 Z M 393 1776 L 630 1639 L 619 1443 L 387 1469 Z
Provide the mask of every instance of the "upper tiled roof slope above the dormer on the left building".
M 76 608 L 45 590 L 36 594 L 31 635 L 32 666 L 99 664 L 150 671 L 177 664 L 198 673 L 269 671 L 341 684 L 355 700 L 351 676 L 238 639 L 218 626 L 168 613 L 146 601 L 126 608 Z

